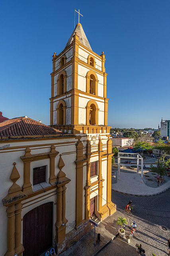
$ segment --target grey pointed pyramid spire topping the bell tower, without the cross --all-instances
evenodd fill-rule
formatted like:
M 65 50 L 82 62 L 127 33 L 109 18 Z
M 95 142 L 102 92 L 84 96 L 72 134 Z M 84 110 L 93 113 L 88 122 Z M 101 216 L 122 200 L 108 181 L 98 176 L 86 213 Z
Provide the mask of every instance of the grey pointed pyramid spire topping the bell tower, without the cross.
M 84 30 L 82 28 L 82 25 L 80 23 L 77 23 L 76 27 L 74 28 L 70 38 L 68 39 L 68 42 L 66 43 L 64 50 L 72 43 L 75 32 L 77 32 L 77 35 L 79 36 L 78 40 L 80 41 L 80 43 L 86 46 L 88 49 L 92 50 L 86 37 L 86 34 L 84 33 Z

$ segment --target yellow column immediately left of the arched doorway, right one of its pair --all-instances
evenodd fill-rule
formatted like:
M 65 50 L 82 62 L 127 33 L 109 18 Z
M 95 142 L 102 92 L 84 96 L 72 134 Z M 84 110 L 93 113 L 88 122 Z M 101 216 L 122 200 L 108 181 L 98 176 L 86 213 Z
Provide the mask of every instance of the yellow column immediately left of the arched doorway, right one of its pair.
M 21 255 L 24 248 L 21 244 L 21 208 L 22 204 L 16 204 L 16 211 L 15 211 L 15 253 Z

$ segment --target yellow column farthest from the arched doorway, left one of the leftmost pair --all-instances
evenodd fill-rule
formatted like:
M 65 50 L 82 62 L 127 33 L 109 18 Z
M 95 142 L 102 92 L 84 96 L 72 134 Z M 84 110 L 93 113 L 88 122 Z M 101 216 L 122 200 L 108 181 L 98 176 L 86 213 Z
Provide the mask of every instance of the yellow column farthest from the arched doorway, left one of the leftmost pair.
M 5 256 L 14 256 L 14 254 L 15 254 L 15 250 L 14 250 L 15 206 L 14 205 L 8 206 L 6 212 L 7 212 L 7 217 L 8 217 L 8 223 L 7 223 L 7 252 L 6 252 Z

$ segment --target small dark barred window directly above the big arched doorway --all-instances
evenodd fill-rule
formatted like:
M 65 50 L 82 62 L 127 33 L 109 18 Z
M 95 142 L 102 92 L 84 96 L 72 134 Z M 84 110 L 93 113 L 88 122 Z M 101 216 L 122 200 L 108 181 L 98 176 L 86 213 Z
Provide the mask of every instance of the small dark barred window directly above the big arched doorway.
M 33 185 L 46 182 L 46 165 L 33 168 Z

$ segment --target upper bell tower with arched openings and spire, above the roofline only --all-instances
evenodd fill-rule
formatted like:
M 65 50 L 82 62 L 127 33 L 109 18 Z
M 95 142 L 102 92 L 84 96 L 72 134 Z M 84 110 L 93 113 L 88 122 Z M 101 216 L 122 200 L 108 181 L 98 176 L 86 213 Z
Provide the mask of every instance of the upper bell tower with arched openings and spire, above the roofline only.
M 53 55 L 50 124 L 76 134 L 109 132 L 105 55 L 92 51 L 78 23 L 59 55 Z

